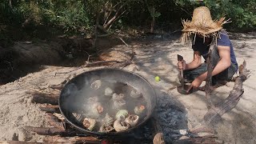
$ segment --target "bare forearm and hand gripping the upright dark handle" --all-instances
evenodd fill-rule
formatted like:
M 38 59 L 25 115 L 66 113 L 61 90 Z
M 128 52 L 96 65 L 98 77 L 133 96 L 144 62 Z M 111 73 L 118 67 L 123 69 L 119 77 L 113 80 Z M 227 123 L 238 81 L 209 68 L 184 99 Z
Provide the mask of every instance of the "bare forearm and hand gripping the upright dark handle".
M 178 62 L 178 69 L 180 70 L 191 70 L 201 66 L 201 54 L 199 51 L 194 51 L 194 58 L 192 62 L 186 64 L 186 61 Z

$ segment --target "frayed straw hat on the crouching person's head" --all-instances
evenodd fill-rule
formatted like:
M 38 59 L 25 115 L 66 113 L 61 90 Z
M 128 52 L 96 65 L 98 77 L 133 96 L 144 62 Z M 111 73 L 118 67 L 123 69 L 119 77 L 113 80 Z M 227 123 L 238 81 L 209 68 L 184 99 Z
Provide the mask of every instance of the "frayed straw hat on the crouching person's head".
M 206 6 L 194 9 L 192 21 L 182 20 L 182 42 L 187 42 L 191 34 L 202 34 L 203 37 L 216 37 L 218 31 L 222 30 L 222 25 L 229 21 L 224 20 L 225 17 L 213 21 L 210 16 L 210 10 Z

